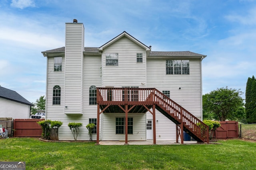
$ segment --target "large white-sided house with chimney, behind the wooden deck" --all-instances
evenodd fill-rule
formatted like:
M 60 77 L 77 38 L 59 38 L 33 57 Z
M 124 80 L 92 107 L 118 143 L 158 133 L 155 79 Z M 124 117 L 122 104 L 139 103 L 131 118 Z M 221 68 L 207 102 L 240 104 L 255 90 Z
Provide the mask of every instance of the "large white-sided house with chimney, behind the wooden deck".
M 46 119 L 64 122 L 59 129 L 60 140 L 73 139 L 67 126 L 70 122 L 83 123 L 78 140 L 89 140 L 85 127 L 88 123 L 96 124 L 93 140 L 96 131 L 102 141 L 125 140 L 126 114 L 98 113 L 96 88 L 155 88 L 202 119 L 201 62 L 206 55 L 151 51 L 151 46 L 126 31 L 100 47 L 84 47 L 84 25 L 76 20 L 66 23 L 65 46 L 42 52 L 47 57 Z M 122 96 L 122 92 L 118 95 Z M 110 101 L 117 99 L 114 91 L 108 93 L 111 95 L 103 96 L 110 96 Z M 126 98 L 130 100 L 136 93 L 129 91 Z M 156 110 L 155 115 L 156 139 L 176 139 L 176 125 L 160 111 Z M 130 141 L 153 139 L 150 111 L 128 113 L 128 122 Z

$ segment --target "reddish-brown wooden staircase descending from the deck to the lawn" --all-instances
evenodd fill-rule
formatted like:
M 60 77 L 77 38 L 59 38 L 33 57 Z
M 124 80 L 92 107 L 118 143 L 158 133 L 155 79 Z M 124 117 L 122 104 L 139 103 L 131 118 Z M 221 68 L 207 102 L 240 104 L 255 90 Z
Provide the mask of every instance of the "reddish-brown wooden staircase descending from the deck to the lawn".
M 209 143 L 209 127 L 176 102 L 154 89 L 147 100 L 156 103 L 156 109 L 176 124 L 176 141 L 183 131 L 198 142 Z M 183 142 L 183 140 L 182 140 Z

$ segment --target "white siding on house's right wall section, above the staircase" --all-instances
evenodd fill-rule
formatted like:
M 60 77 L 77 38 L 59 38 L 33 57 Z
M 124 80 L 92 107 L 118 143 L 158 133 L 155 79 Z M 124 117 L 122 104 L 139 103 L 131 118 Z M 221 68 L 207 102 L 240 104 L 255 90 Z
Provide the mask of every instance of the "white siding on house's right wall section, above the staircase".
M 162 92 L 170 90 L 170 98 L 201 119 L 200 59 L 189 59 L 190 74 L 169 75 L 166 59 L 147 59 L 147 87 Z

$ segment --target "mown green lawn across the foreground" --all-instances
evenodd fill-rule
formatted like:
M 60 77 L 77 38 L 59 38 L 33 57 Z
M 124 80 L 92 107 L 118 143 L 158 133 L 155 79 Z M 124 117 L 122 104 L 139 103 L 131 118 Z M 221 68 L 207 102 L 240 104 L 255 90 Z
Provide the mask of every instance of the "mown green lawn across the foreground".
M 0 140 L 0 161 L 25 161 L 26 170 L 250 170 L 256 143 L 239 139 L 222 145 L 94 145 Z

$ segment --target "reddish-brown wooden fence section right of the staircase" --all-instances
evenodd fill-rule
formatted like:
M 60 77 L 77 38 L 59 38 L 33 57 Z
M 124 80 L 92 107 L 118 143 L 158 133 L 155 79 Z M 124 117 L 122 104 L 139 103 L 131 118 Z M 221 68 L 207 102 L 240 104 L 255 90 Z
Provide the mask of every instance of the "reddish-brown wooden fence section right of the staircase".
M 213 135 L 214 136 L 214 135 Z M 216 139 L 238 138 L 237 121 L 220 121 L 220 127 L 215 131 Z

